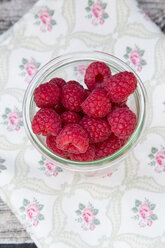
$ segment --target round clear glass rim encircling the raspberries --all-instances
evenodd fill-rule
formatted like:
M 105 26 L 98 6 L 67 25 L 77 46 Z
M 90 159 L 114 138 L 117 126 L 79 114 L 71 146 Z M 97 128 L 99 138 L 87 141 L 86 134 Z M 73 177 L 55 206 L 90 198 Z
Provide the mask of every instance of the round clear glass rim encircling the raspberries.
M 40 142 L 38 135 L 35 135 L 31 129 L 31 121 L 30 121 L 30 106 L 33 101 L 33 92 L 36 87 L 36 82 L 41 82 L 43 75 L 48 75 L 50 71 L 52 71 L 52 68 L 55 66 L 57 68 L 60 68 L 61 66 L 64 66 L 66 64 L 69 64 L 71 62 L 80 62 L 80 61 L 102 61 L 105 63 L 113 63 L 117 67 L 120 67 L 121 71 L 127 70 L 131 71 L 135 74 L 138 85 L 137 89 L 135 90 L 134 94 L 137 94 L 140 96 L 140 101 L 138 102 L 140 106 L 139 111 L 139 118 L 137 122 L 137 126 L 129 138 L 129 140 L 126 142 L 124 146 L 122 146 L 118 151 L 115 153 L 104 157 L 102 159 L 94 160 L 94 161 L 87 161 L 87 162 L 81 162 L 81 161 L 73 161 L 69 159 L 65 159 L 54 152 L 52 152 L 48 147 L 46 147 L 43 143 Z M 138 98 L 138 97 L 137 97 Z M 139 98 L 138 98 L 139 99 Z M 146 126 L 146 119 L 147 119 L 147 106 L 148 106 L 148 97 L 146 93 L 146 89 L 140 79 L 140 77 L 137 75 L 137 73 L 125 62 L 123 62 L 121 59 L 100 51 L 81 51 L 81 52 L 72 52 L 67 53 L 64 55 L 60 55 L 52 60 L 50 60 L 48 63 L 46 63 L 33 77 L 31 82 L 29 83 L 23 99 L 23 122 L 24 122 L 24 128 L 25 131 L 32 142 L 32 144 L 36 147 L 36 149 L 44 154 L 44 156 L 53 161 L 53 162 L 59 162 L 61 163 L 61 167 L 73 170 L 73 171 L 96 171 L 100 169 L 105 169 L 107 167 L 111 167 L 117 162 L 120 162 L 123 160 L 126 156 L 128 151 L 131 151 L 139 139 L 141 138 L 145 126 Z

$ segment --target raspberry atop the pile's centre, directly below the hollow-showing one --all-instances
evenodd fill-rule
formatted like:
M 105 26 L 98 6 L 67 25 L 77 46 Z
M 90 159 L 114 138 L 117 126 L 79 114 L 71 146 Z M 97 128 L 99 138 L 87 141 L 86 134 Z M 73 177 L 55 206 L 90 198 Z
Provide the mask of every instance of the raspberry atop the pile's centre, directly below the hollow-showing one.
M 81 107 L 90 117 L 102 118 L 110 112 L 111 103 L 104 89 L 94 89 Z

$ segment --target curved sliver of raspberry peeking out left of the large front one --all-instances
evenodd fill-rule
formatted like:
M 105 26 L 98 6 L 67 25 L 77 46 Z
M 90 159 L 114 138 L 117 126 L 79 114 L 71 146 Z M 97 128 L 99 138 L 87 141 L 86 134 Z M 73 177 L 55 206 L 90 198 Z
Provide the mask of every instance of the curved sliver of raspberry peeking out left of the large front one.
M 61 157 L 67 158 L 68 153 L 66 151 L 60 150 L 57 148 L 56 145 L 56 137 L 53 135 L 48 135 L 46 137 L 46 144 L 50 150 L 52 150 L 57 155 L 60 155 Z

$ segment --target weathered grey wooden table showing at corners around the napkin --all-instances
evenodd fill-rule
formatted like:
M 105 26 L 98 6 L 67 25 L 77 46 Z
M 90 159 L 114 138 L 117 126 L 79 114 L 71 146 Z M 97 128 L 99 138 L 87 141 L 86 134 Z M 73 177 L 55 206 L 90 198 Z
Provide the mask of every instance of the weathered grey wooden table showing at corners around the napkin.
M 65 0 L 68 1 L 68 0 Z M 37 0 L 0 0 L 0 34 L 20 19 Z M 165 0 L 138 0 L 165 33 Z M 7 243 L 12 245 L 8 246 Z M 13 245 L 13 244 L 17 245 Z M 18 245 L 22 243 L 21 245 Z M 28 243 L 28 244 L 25 244 Z M 3 245 L 2 245 L 3 244 Z M 0 199 L 0 247 L 36 247 L 16 217 Z

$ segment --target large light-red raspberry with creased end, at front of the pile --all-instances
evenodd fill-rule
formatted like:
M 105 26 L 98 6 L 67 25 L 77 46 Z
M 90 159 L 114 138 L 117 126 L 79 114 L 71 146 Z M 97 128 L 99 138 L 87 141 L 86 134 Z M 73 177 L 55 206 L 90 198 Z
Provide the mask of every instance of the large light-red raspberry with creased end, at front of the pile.
M 86 131 L 78 124 L 65 126 L 56 139 L 57 148 L 69 153 L 84 153 L 89 146 L 89 139 Z

